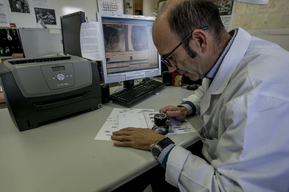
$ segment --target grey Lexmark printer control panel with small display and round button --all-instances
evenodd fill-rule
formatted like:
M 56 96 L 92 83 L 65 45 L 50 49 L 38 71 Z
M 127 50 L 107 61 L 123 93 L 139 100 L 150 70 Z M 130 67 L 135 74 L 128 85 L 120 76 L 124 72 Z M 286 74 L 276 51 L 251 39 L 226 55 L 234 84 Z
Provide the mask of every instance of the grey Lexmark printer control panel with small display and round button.
M 74 85 L 74 71 L 72 63 L 41 66 L 42 74 L 51 90 Z

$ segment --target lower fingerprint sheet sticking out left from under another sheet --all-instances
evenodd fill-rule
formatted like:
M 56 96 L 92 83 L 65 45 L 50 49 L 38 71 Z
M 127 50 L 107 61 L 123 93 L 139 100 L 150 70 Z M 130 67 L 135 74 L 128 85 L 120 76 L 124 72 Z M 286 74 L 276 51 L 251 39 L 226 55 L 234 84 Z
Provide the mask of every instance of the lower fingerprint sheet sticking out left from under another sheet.
M 144 113 L 144 112 L 153 112 L 154 109 L 127 109 L 127 108 L 114 108 L 110 113 L 109 117 L 106 119 L 105 123 L 97 133 L 97 136 L 94 140 L 108 140 L 112 141 L 110 136 L 112 132 L 118 131 L 118 114 L 123 113 Z

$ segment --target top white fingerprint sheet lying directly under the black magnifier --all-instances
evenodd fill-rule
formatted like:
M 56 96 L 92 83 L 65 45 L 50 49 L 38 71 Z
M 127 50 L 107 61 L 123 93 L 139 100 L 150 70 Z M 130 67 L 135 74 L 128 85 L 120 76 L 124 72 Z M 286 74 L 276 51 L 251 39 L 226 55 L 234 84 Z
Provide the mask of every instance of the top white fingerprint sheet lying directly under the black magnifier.
M 126 127 L 136 128 L 153 128 L 154 115 L 158 112 L 149 113 L 119 113 L 118 114 L 118 129 Z M 169 126 L 168 134 L 182 134 L 197 132 L 187 119 L 177 120 L 170 118 L 171 126 Z

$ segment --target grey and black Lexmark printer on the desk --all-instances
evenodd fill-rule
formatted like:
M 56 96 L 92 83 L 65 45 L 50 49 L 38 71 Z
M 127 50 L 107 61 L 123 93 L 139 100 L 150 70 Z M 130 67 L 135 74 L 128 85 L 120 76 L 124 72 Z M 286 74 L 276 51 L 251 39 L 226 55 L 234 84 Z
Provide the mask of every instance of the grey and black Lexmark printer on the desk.
M 5 60 L 0 83 L 19 131 L 101 108 L 97 64 L 77 56 Z

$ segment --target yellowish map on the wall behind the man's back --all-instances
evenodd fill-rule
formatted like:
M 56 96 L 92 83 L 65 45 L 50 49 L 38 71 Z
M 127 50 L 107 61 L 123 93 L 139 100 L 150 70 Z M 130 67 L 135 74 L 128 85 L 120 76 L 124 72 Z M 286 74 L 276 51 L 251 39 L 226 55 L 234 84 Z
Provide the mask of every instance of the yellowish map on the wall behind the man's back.
M 235 2 L 232 27 L 245 30 L 289 28 L 289 0 L 269 0 L 267 5 Z

